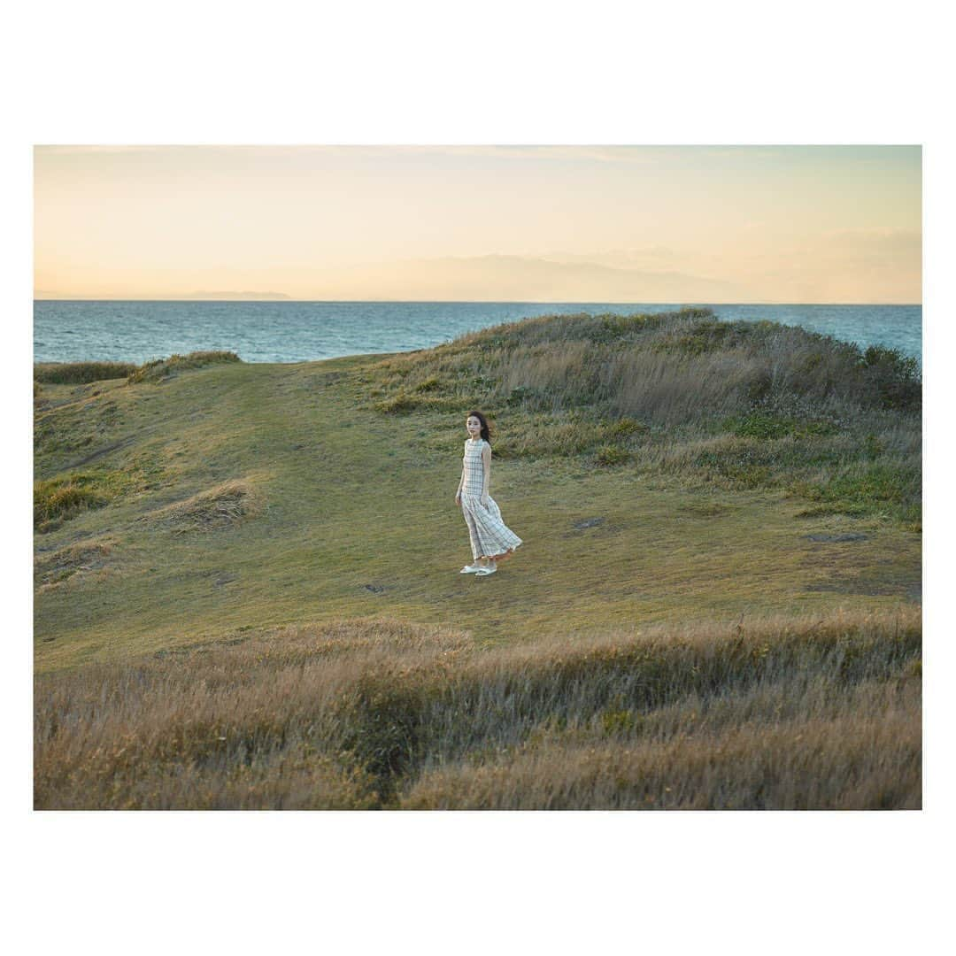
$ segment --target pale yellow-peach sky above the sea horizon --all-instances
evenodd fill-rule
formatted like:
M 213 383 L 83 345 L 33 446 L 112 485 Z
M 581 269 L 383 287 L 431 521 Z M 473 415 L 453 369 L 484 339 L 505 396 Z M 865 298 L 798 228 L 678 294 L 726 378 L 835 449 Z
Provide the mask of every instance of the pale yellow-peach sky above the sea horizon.
M 919 146 L 34 148 L 36 298 L 922 302 Z

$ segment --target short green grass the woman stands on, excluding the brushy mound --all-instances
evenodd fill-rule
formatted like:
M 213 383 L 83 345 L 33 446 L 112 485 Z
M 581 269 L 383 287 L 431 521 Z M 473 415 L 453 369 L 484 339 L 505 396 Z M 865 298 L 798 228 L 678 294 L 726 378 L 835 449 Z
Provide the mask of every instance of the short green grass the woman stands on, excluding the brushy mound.
M 646 324 L 655 323 L 660 332 L 663 320 Z M 864 434 L 880 435 L 885 450 L 865 467 L 902 463 L 894 481 L 847 469 L 864 442 L 852 428 L 748 438 L 721 424 L 726 415 L 668 426 L 580 403 L 503 404 L 492 493 L 526 544 L 498 575 L 459 576 L 470 554 L 452 500 L 462 421 L 474 389 L 500 380 L 485 350 L 521 333 L 547 359 L 549 334 L 613 344 L 621 328 L 630 325 L 619 318 L 583 332 L 570 319 L 532 320 L 412 355 L 222 362 L 98 394 L 44 386 L 37 480 L 99 473 L 112 485 L 89 486 L 108 504 L 76 511 L 37 546 L 54 553 L 104 533 L 116 543 L 108 568 L 37 596 L 38 668 L 370 614 L 520 641 L 555 628 L 885 608 L 918 590 L 918 523 L 899 511 L 918 495 L 919 459 L 907 414 L 879 409 Z M 393 380 L 427 383 L 419 394 L 430 400 L 461 374 L 456 410 L 373 407 L 371 393 Z M 90 456 L 99 457 L 77 467 Z M 793 490 L 801 480 L 806 494 Z M 227 482 L 249 491 L 249 514 L 211 531 L 205 519 L 192 530 L 156 520 Z M 808 538 L 848 529 L 865 538 Z

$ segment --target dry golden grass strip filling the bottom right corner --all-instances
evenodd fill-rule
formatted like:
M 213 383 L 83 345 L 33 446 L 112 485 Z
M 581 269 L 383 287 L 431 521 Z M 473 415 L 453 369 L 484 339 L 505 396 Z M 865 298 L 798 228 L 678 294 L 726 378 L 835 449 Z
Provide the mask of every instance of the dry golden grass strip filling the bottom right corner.
M 807 695 L 809 715 L 785 688 Z M 919 809 L 919 681 L 865 682 L 836 701 L 833 689 L 817 678 L 701 699 L 647 718 L 605 712 L 594 726 L 565 730 L 557 739 L 531 736 L 497 760 L 426 771 L 402 806 Z

